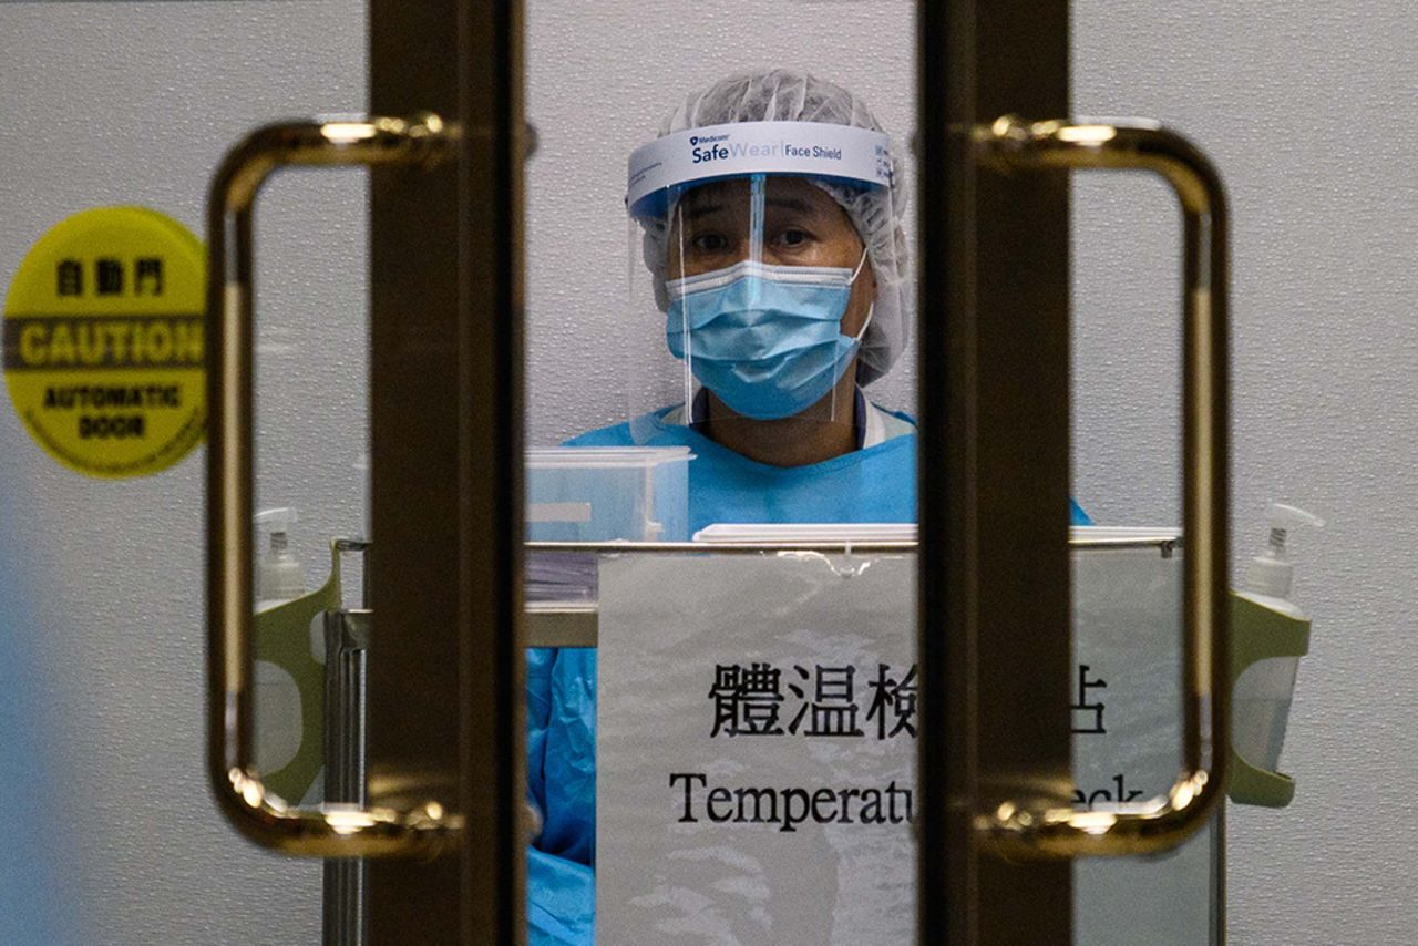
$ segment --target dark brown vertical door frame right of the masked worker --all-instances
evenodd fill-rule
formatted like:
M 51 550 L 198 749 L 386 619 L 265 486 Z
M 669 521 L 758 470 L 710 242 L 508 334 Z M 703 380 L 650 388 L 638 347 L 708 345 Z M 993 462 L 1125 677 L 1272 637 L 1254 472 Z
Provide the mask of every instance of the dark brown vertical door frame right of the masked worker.
M 922 943 L 1072 940 L 1071 865 L 974 827 L 1072 794 L 1069 186 L 977 167 L 970 136 L 1068 115 L 1068 6 L 919 7 Z

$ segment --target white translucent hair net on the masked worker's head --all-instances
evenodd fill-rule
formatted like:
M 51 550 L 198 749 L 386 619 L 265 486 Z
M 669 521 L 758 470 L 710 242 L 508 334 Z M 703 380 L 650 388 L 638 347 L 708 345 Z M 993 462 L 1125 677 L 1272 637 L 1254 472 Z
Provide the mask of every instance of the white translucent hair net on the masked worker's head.
M 730 122 L 825 122 L 882 132 L 866 105 L 825 79 L 795 69 L 742 72 L 719 79 L 709 88 L 685 98 L 683 105 L 659 128 L 671 135 L 688 128 L 727 125 Z M 908 274 L 906 234 L 902 228 L 906 208 L 906 173 L 900 149 L 891 146 L 892 184 L 889 189 L 856 189 L 830 180 L 808 177 L 847 211 L 856 233 L 866 244 L 866 257 L 876 278 L 876 309 L 862 338 L 856 379 L 871 384 L 891 370 L 910 338 L 915 315 L 915 288 Z M 668 308 L 665 260 L 668 226 L 664 218 L 642 218 L 645 228 L 645 267 L 655 285 L 655 301 Z

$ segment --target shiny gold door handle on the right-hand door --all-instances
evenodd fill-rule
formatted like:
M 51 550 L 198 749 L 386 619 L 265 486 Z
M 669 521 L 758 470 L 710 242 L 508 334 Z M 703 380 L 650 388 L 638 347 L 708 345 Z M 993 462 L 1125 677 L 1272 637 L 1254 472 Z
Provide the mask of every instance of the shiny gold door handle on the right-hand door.
M 1187 139 L 1156 122 L 1025 122 L 974 129 L 997 170 L 1150 170 L 1183 211 L 1183 772 L 1164 796 L 1127 811 L 1004 803 L 976 827 L 1020 855 L 1146 854 L 1176 847 L 1224 797 L 1229 733 L 1227 597 L 1227 206 L 1221 177 Z M 1136 810 L 1133 810 L 1136 808 Z

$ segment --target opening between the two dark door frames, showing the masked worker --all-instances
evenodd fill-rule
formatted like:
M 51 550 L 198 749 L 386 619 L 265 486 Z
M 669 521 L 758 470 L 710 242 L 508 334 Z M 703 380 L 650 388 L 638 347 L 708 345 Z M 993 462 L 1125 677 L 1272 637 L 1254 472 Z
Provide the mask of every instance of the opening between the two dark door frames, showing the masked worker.
M 913 10 L 532 0 L 526 60 L 530 942 L 909 942 Z

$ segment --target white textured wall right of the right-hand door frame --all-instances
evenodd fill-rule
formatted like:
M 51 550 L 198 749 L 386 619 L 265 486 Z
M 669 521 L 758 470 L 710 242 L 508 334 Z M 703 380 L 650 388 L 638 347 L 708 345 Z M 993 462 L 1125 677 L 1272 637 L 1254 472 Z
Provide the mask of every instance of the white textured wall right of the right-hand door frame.
M 1273 499 L 1329 519 L 1295 539 L 1295 803 L 1231 810 L 1235 943 L 1418 936 L 1415 50 L 1404 0 L 1075 3 L 1076 109 L 1176 125 L 1229 189 L 1236 555 Z M 1151 183 L 1076 197 L 1076 489 L 1103 522 L 1171 522 L 1176 214 Z

